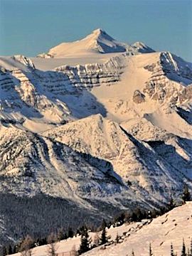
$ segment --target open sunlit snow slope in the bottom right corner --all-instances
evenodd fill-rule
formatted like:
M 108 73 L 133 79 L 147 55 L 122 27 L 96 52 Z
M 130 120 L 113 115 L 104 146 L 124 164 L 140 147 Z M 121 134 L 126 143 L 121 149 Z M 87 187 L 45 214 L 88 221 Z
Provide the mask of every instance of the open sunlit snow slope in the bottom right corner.
M 190 248 L 191 229 L 192 229 L 192 203 L 188 202 L 183 206 L 174 208 L 154 219 L 149 225 L 135 230 L 135 232 L 127 232 L 129 237 L 125 237 L 123 242 L 117 245 L 110 245 L 105 250 L 97 247 L 83 255 L 94 256 L 126 256 L 132 255 L 149 255 L 149 243 L 151 243 L 154 255 L 169 255 L 171 243 L 174 246 L 174 252 L 179 255 L 181 253 L 183 239 L 186 248 Z M 129 226 L 127 227 L 127 231 Z M 124 231 L 126 233 L 126 231 Z

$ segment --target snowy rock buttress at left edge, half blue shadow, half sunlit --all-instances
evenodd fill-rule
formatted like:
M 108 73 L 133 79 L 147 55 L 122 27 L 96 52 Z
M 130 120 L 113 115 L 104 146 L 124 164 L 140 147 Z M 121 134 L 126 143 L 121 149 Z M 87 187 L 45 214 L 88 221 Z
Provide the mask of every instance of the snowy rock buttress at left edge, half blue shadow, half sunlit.
M 65 102 L 55 102 L 43 92 L 35 70 L 1 70 L 0 79 L 0 118 L 3 124 L 20 125 L 30 119 L 49 123 L 53 121 L 53 113 L 53 122 L 61 122 L 63 115 L 70 112 Z

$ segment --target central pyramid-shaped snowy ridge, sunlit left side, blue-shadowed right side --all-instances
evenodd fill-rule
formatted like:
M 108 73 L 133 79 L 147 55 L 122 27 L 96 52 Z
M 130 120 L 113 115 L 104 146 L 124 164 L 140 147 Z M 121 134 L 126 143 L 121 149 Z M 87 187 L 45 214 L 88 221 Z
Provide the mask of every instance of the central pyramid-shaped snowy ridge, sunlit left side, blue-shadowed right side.
M 132 188 L 153 192 L 156 200 L 167 200 L 169 190 L 181 189 L 180 173 L 143 142 L 124 132 L 100 114 L 80 119 L 43 134 L 76 151 L 110 161 L 114 171 Z M 166 184 L 166 185 L 165 185 Z

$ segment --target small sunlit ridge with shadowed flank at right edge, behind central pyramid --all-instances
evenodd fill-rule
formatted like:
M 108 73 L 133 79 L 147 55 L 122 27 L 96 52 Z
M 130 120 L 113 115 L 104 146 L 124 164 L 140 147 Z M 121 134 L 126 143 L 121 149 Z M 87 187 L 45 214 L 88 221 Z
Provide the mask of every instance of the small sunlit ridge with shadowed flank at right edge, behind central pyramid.
M 147 142 L 156 154 L 171 164 L 175 170 L 180 171 L 183 178 L 191 179 L 191 139 L 166 132 L 145 118 L 124 122 L 122 127 L 137 139 Z

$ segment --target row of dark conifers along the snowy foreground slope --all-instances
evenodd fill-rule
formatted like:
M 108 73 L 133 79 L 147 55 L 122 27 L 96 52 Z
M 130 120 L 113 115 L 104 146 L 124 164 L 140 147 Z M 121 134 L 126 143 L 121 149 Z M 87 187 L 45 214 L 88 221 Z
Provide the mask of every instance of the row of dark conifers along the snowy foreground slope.
M 191 195 L 188 191 L 188 186 L 183 187 L 183 194 L 181 196 L 183 203 L 191 200 Z M 80 248 L 76 250 L 73 248 L 74 255 L 81 255 L 88 250 L 91 250 L 94 247 L 100 245 L 106 245 L 110 240 L 110 236 L 107 235 L 107 228 L 111 226 L 117 227 L 119 225 L 123 225 L 124 223 L 132 223 L 141 221 L 143 219 L 153 219 L 159 215 L 163 215 L 169 210 L 176 207 L 173 198 L 170 198 L 169 203 L 165 207 L 161 207 L 159 210 L 141 210 L 140 208 L 136 208 L 132 213 L 127 211 L 120 213 L 119 215 L 114 217 L 113 221 L 106 222 L 105 219 L 102 220 L 102 225 L 100 228 L 90 228 L 86 225 L 82 225 L 81 228 L 78 228 L 75 232 L 72 228 L 68 228 L 68 233 L 65 233 L 63 229 L 59 229 L 57 233 L 50 233 L 48 238 L 37 238 L 33 239 L 30 235 L 26 235 L 22 240 L 20 240 L 16 245 L 7 245 L 1 247 L 1 256 L 11 255 L 16 252 L 21 252 L 22 256 L 31 256 L 33 247 L 37 247 L 40 245 L 48 245 L 48 255 L 55 256 L 56 255 L 56 242 L 60 240 L 66 240 L 68 238 L 73 238 L 74 235 L 80 235 Z M 92 241 L 89 236 L 89 231 L 101 231 L 100 236 L 96 233 L 95 238 Z M 115 239 L 115 242 L 119 242 L 119 235 Z M 183 240 L 183 247 L 181 256 L 192 256 L 192 240 L 191 240 L 191 248 L 186 250 L 186 246 Z M 134 250 L 132 251 L 132 256 L 134 255 Z M 151 244 L 149 245 L 149 256 L 154 256 L 151 250 Z M 171 256 L 176 256 L 174 253 L 174 246 L 171 243 Z

